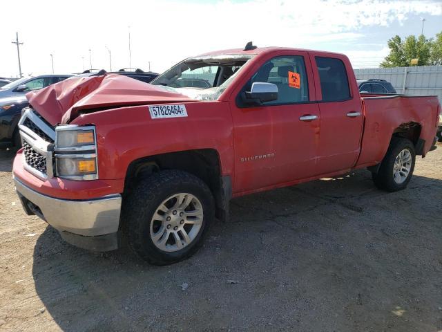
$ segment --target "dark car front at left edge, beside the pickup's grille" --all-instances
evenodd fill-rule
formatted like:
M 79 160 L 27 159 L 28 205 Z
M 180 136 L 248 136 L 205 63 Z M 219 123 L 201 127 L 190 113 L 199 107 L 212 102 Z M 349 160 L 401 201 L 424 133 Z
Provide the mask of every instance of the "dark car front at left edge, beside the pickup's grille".
M 20 133 L 17 127 L 21 110 L 29 106 L 26 95 L 0 98 L 0 149 L 20 147 Z

